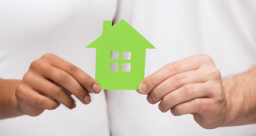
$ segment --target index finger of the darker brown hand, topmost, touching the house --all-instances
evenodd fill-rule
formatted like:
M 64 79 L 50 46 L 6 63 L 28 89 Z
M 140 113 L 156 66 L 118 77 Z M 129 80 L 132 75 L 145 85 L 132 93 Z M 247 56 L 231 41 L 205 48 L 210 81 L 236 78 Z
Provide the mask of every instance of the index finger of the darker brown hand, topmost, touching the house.
M 99 83 L 97 83 L 94 78 L 86 74 L 83 70 L 79 69 L 79 67 L 76 67 L 72 63 L 60 58 L 59 56 L 55 56 L 54 54 L 47 53 L 44 56 L 50 58 L 52 66 L 73 76 L 84 88 L 86 88 L 88 92 L 92 92 L 94 94 L 100 93 L 101 87 Z

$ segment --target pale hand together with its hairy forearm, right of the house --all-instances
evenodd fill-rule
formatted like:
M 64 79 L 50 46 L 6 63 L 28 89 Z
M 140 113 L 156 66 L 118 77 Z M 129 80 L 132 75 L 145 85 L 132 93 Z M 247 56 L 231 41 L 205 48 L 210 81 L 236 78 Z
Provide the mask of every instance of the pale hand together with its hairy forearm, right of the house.
M 205 129 L 256 123 L 256 67 L 222 80 L 208 55 L 169 63 L 139 84 L 140 94 L 161 112 L 193 114 Z

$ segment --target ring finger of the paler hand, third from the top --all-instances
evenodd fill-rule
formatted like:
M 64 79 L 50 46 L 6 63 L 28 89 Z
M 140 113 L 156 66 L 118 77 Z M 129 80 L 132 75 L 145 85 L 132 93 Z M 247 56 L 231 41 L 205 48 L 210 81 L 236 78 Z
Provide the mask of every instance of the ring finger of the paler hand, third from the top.
M 205 83 L 186 84 L 164 96 L 159 104 L 159 109 L 162 112 L 167 112 L 177 104 L 200 97 L 208 97 L 211 93 Z

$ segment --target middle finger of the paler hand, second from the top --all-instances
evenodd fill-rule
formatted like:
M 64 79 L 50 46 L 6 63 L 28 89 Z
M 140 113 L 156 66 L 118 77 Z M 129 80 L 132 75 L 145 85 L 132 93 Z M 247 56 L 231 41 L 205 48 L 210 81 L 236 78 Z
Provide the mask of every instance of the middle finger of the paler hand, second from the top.
M 148 96 L 149 103 L 156 104 L 162 97 L 170 92 L 177 90 L 185 84 L 203 83 L 207 80 L 207 76 L 202 76 L 202 70 L 197 69 L 184 73 L 179 73 L 166 79 L 164 82 L 155 87 Z

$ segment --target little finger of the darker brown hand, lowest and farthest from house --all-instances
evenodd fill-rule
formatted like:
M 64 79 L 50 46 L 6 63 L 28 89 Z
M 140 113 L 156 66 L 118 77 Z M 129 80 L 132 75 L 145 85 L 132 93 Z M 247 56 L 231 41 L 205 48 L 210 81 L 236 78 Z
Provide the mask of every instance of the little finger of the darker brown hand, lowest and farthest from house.
M 20 100 L 23 101 L 26 104 L 33 105 L 34 107 L 40 108 L 40 109 L 48 109 L 53 110 L 59 107 L 59 102 L 49 99 L 46 96 L 38 94 L 35 90 L 32 90 L 32 88 L 26 87 L 26 91 L 23 91 L 22 95 L 23 97 L 20 97 Z M 27 97 L 29 96 L 29 98 Z

